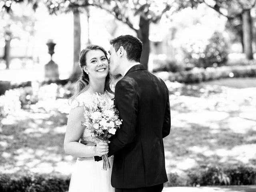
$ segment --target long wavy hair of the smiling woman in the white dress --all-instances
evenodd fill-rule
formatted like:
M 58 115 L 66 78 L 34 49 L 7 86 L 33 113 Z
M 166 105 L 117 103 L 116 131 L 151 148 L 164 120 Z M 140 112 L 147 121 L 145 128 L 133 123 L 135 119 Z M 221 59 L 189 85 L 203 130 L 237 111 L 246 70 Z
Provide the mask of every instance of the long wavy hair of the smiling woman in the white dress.
M 73 101 L 79 94 L 81 94 L 82 92 L 84 92 L 84 91 L 86 91 L 88 89 L 89 76 L 83 70 L 83 66 L 86 66 L 86 54 L 90 50 L 102 50 L 102 52 L 104 53 L 105 57 L 108 59 L 106 50 L 103 47 L 98 46 L 98 45 L 92 45 L 92 44 L 88 45 L 85 49 L 83 49 L 80 52 L 80 55 L 79 55 L 79 65 L 81 67 L 82 72 L 81 72 L 81 75 L 80 75 L 79 79 L 75 83 L 74 94 L 70 98 L 71 101 Z M 105 80 L 104 91 L 105 92 L 113 93 L 111 88 L 110 88 L 110 82 L 111 82 L 111 78 L 110 78 L 110 74 L 108 74 L 106 76 L 106 80 Z

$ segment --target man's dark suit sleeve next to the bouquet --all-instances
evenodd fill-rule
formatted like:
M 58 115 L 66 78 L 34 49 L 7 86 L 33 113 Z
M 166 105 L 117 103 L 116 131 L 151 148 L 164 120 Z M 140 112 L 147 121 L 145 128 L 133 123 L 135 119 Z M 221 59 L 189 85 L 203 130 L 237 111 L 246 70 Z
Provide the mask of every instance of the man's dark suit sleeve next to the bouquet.
M 122 119 L 120 129 L 110 140 L 108 156 L 130 145 L 135 137 L 135 128 L 138 114 L 138 95 L 131 82 L 120 80 L 116 84 L 115 104 Z

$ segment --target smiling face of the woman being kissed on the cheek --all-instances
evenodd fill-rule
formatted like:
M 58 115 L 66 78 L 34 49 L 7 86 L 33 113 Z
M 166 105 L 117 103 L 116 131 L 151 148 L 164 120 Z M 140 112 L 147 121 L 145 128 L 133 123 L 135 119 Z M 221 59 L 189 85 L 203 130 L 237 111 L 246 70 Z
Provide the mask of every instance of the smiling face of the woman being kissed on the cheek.
M 108 59 L 102 50 L 90 50 L 86 54 L 86 66 L 89 78 L 106 78 L 108 75 Z

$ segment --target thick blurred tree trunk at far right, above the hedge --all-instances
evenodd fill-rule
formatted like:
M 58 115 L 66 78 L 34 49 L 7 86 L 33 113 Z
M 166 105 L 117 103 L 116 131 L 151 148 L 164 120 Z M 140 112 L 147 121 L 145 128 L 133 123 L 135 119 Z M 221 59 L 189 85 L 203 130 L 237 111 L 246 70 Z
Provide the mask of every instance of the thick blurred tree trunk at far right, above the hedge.
M 252 18 L 250 10 L 245 10 L 242 14 L 242 29 L 243 29 L 243 42 L 244 53 L 248 60 L 253 59 L 252 54 Z

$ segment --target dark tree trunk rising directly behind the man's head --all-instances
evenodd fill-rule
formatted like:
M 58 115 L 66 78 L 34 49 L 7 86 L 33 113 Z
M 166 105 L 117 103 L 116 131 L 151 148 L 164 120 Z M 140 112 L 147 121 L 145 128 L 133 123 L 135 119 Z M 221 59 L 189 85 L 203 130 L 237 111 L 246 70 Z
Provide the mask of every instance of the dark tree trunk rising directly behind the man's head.
M 143 43 L 142 55 L 140 58 L 140 62 L 144 64 L 145 68 L 148 69 L 148 58 L 150 52 L 150 42 L 149 42 L 149 20 L 140 16 L 140 30 L 137 31 L 138 38 Z

